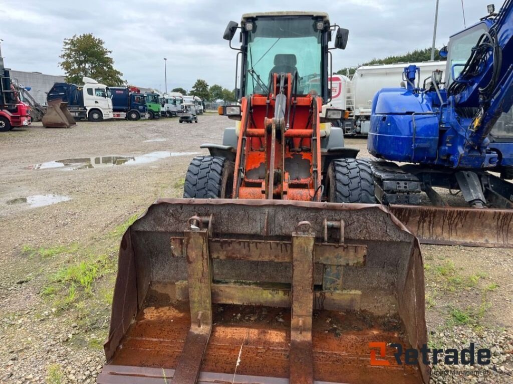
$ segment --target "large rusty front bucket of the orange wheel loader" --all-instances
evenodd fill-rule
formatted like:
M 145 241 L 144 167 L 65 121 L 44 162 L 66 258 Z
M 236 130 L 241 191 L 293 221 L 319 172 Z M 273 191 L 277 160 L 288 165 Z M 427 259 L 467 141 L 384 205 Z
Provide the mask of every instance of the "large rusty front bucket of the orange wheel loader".
M 123 236 L 97 382 L 426 384 L 390 343 L 427 344 L 424 271 L 383 206 L 159 200 Z

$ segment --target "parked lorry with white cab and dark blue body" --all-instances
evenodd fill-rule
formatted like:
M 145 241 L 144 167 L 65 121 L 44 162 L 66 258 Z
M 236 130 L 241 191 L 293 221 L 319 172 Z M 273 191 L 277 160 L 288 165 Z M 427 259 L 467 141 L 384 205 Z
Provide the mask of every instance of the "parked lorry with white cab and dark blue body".
M 48 92 L 47 102 L 62 99 L 67 102 L 67 108 L 75 119 L 102 121 L 111 119 L 112 100 L 110 90 L 104 84 L 89 77 L 83 77 L 83 86 L 68 83 L 55 83 Z

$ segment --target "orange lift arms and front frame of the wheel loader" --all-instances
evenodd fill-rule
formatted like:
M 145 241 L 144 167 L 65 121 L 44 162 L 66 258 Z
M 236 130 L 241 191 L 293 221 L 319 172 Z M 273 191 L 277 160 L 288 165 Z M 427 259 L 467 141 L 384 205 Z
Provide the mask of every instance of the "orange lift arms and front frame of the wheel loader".
M 315 92 L 293 95 L 290 73 L 273 74 L 272 83 L 268 96 L 241 100 L 233 198 L 320 201 L 322 100 Z M 283 96 L 284 115 L 274 117 Z

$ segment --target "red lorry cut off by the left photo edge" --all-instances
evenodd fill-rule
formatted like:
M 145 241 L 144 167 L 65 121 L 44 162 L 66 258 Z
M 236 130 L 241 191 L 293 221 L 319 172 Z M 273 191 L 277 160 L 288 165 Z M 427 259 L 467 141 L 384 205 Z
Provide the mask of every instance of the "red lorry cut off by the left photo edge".
M 20 99 L 15 84 L 0 51 L 0 132 L 31 124 L 30 107 Z

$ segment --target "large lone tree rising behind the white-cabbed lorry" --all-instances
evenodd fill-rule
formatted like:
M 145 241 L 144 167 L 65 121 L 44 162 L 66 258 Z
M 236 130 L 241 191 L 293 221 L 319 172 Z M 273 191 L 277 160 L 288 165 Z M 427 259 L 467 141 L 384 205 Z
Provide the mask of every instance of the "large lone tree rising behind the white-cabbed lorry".
M 87 76 L 106 86 L 121 86 L 123 74 L 114 69 L 114 60 L 109 56 L 112 51 L 104 44 L 92 33 L 64 39 L 59 65 L 66 73 L 66 81 L 82 84 L 82 77 Z

